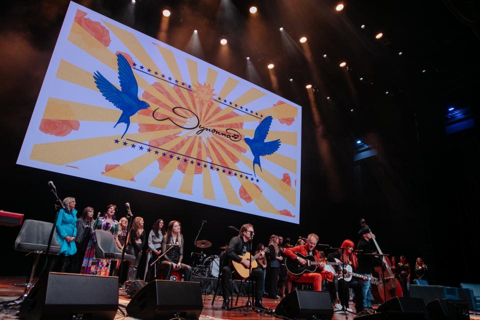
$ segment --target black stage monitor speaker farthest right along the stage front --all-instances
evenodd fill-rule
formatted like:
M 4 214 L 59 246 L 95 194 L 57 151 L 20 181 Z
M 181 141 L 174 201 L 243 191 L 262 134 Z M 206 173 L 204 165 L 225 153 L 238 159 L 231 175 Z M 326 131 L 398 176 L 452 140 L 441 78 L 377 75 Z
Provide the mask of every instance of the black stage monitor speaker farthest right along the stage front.
M 468 320 L 468 304 L 465 301 L 436 299 L 426 304 L 434 320 Z

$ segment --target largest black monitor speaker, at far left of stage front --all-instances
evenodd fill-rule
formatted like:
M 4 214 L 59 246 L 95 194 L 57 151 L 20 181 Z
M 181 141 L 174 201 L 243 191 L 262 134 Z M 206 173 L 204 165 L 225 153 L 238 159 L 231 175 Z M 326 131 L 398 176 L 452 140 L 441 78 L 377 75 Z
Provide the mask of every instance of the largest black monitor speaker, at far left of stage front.
M 113 319 L 118 277 L 48 272 L 20 306 L 22 319 Z

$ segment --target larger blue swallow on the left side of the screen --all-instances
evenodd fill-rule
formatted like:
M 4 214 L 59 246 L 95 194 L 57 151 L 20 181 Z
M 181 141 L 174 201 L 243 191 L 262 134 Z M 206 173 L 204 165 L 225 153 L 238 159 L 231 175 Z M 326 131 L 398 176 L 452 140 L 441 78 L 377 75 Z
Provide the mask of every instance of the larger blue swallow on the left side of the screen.
M 123 137 L 130 126 L 130 116 L 134 115 L 140 109 L 148 108 L 150 105 L 138 98 L 138 84 L 131 71 L 131 66 L 125 57 L 117 54 L 116 62 L 118 64 L 118 80 L 120 80 L 121 91 L 98 71 L 93 73 L 93 79 L 101 94 L 122 111 L 118 121 L 113 127 L 120 122 L 126 123 L 125 132 L 121 135 L 121 137 Z

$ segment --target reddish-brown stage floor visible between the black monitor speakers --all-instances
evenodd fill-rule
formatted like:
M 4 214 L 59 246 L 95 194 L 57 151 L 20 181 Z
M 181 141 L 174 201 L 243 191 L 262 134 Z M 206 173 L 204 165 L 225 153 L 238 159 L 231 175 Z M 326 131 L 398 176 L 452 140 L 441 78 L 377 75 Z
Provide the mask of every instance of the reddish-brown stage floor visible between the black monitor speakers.
M 20 296 L 23 292 L 23 289 L 18 286 L 14 286 L 13 283 L 21 283 L 24 282 L 25 278 L 24 277 L 0 277 L 0 302 L 2 301 L 9 301 L 12 299 L 17 298 Z M 134 317 L 125 317 L 125 315 L 122 313 L 122 311 L 125 311 L 125 306 L 128 304 L 130 301 L 130 298 L 126 296 L 122 296 L 124 292 L 122 290 L 119 291 L 119 297 L 118 297 L 118 305 L 119 305 L 119 310 L 117 311 L 117 314 L 115 316 L 116 319 L 136 319 Z M 215 299 L 215 303 L 213 306 L 211 305 L 211 301 L 213 299 L 213 295 L 203 295 L 203 310 L 200 315 L 201 320 L 215 320 L 215 319 L 244 319 L 244 320 L 250 320 L 250 319 L 275 319 L 274 316 L 271 316 L 269 314 L 263 313 L 260 314 L 258 312 L 251 311 L 249 310 L 248 314 L 245 316 L 243 311 L 228 311 L 221 309 L 220 306 L 222 304 L 221 297 L 219 299 Z M 238 299 L 238 305 L 244 305 L 246 302 L 246 297 L 240 297 Z M 276 306 L 278 305 L 278 302 L 280 302 L 280 299 L 269 299 L 269 298 L 264 298 L 263 299 L 263 304 L 270 308 L 270 309 L 275 309 Z M 235 304 L 235 301 L 233 301 L 233 306 Z M 355 306 L 350 303 L 350 308 L 355 310 Z M 5 309 L 0 310 L 0 319 L 19 319 L 17 316 L 18 313 L 18 308 L 19 306 L 11 306 Z M 348 318 L 352 319 L 355 317 L 355 314 L 348 314 Z M 339 313 L 334 313 L 332 320 L 340 320 L 340 319 L 345 319 L 345 315 L 342 312 Z M 470 319 L 475 319 L 475 320 L 480 320 L 480 316 L 473 316 L 470 315 Z

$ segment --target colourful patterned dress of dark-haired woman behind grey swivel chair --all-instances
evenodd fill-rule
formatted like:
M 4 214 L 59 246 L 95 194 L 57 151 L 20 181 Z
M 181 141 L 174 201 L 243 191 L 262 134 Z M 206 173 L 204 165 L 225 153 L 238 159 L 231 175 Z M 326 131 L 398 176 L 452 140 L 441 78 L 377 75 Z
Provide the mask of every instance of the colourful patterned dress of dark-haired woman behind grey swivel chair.
M 82 274 L 94 274 L 94 275 L 108 275 L 110 271 L 111 259 L 97 259 L 95 258 L 95 246 L 96 246 L 96 237 L 95 229 L 110 231 L 111 234 L 115 237 L 119 233 L 118 221 L 112 220 L 112 222 L 106 222 L 106 218 L 99 217 L 93 223 L 93 227 L 90 230 L 91 238 L 88 242 L 85 251 L 85 257 L 83 258 L 83 263 L 81 264 L 80 273 Z

